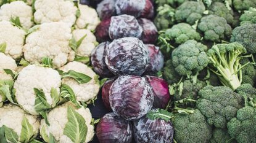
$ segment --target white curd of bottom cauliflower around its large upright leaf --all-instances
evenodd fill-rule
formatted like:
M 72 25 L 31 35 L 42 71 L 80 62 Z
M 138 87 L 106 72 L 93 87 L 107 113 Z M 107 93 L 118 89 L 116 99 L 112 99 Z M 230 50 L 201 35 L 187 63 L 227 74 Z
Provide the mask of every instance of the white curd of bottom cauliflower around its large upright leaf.
M 66 102 L 62 106 L 58 106 L 52 109 L 48 116 L 47 120 L 49 126 L 46 125 L 45 120 L 41 120 L 40 125 L 40 134 L 43 137 L 44 141 L 49 142 L 49 134 L 56 139 L 59 143 L 72 143 L 72 140 L 64 134 L 64 128 L 68 123 L 68 107 L 75 109 L 78 114 L 80 114 L 84 119 L 87 126 L 87 134 L 85 142 L 91 141 L 94 136 L 94 126 L 91 125 L 92 117 L 91 112 L 88 108 L 81 107 L 76 109 L 76 107 L 71 102 Z M 75 128 L 75 126 L 74 126 Z

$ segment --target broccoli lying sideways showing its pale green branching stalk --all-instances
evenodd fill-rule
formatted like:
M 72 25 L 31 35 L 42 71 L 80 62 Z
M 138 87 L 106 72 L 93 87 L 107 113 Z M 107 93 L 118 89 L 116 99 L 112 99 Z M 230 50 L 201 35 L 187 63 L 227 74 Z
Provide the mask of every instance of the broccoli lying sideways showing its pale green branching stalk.
M 220 82 L 232 90 L 240 87 L 242 80 L 242 65 L 239 63 L 246 48 L 234 42 L 230 44 L 213 45 L 208 50 L 210 69 L 218 75 Z

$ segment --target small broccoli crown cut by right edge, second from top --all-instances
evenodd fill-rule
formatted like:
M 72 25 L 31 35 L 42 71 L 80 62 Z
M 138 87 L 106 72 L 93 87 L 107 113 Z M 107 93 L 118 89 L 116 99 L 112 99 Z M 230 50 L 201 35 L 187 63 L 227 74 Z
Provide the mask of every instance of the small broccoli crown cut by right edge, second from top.
M 249 10 L 244 11 L 244 14 L 239 18 L 241 25 L 256 24 L 256 9 L 250 7 Z

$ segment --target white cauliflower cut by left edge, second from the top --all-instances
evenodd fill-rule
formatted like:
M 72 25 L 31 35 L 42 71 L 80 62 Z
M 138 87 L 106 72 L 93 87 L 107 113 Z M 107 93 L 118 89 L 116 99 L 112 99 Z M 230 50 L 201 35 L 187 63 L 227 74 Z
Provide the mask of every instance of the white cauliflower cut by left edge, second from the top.
M 13 26 L 9 21 L 0 21 L 0 44 L 6 43 L 6 55 L 14 59 L 22 56 L 25 31 Z

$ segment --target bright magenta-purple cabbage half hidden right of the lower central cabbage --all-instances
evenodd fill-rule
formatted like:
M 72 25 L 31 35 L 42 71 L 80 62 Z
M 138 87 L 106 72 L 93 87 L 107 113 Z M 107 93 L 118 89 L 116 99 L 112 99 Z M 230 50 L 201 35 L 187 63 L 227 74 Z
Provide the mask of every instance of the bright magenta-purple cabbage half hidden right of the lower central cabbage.
M 146 76 L 146 79 L 155 93 L 153 107 L 165 109 L 170 101 L 168 83 L 159 77 L 149 75 Z

